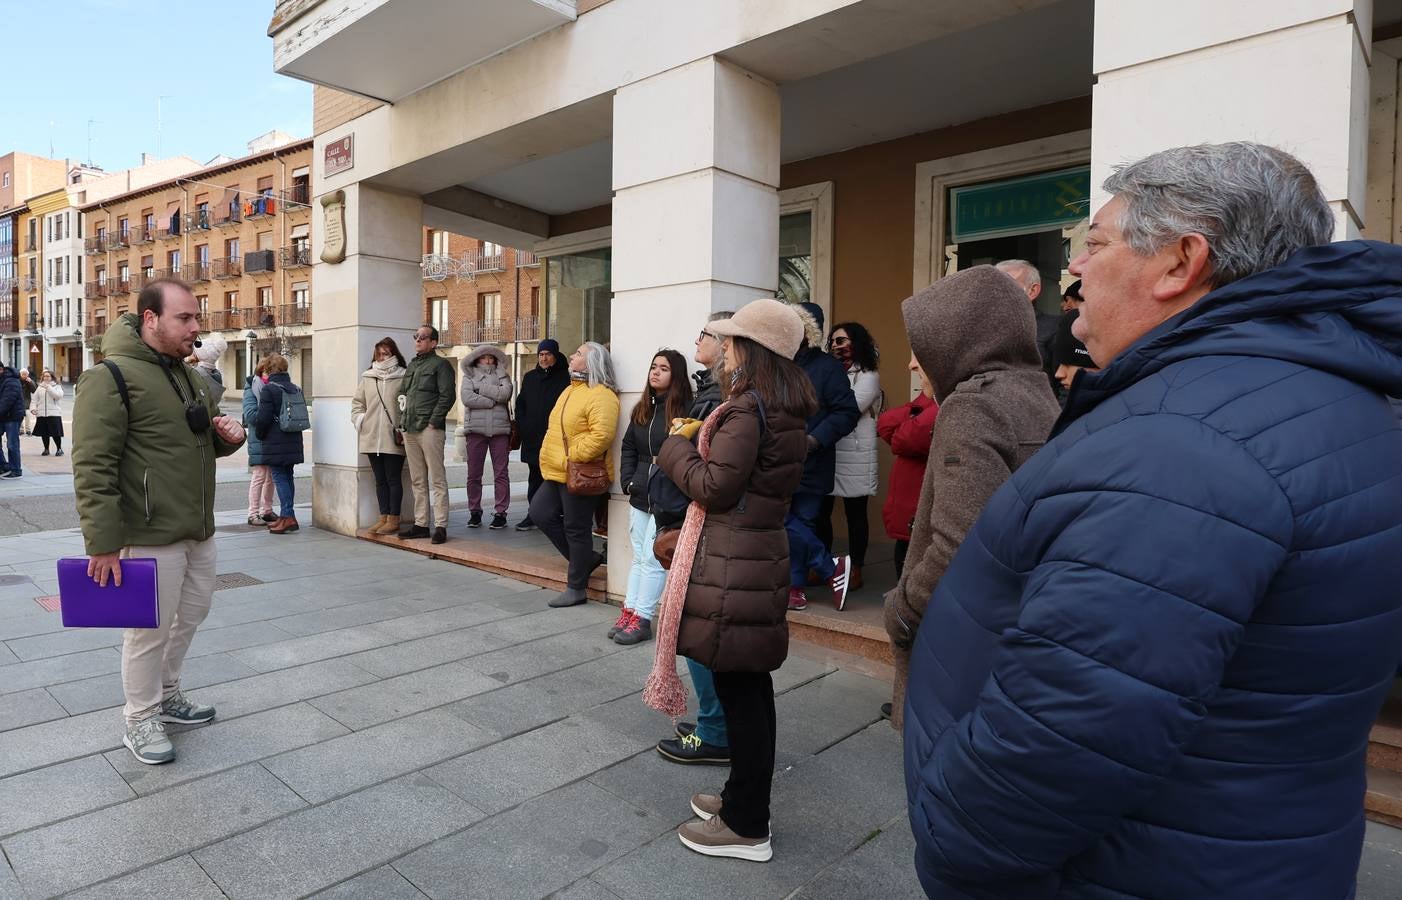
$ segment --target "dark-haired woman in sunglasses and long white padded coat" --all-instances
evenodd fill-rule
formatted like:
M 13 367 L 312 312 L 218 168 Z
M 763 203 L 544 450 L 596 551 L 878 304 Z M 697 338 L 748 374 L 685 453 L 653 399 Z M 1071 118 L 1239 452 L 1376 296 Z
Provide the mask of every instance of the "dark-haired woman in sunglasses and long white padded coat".
M 880 350 L 869 331 L 857 322 L 833 325 L 827 339 L 827 352 L 847 367 L 847 380 L 857 395 L 857 408 L 862 416 L 857 428 L 837 442 L 837 474 L 833 478 L 833 493 L 823 499 L 817 514 L 819 537 L 829 548 L 833 545 L 833 510 L 837 498 L 843 498 L 847 516 L 847 552 L 852 558 L 848 590 L 862 586 L 862 566 L 866 565 L 866 544 L 871 541 L 871 526 L 866 519 L 869 498 L 876 493 L 876 416 L 882 411 L 880 376 L 876 364 Z

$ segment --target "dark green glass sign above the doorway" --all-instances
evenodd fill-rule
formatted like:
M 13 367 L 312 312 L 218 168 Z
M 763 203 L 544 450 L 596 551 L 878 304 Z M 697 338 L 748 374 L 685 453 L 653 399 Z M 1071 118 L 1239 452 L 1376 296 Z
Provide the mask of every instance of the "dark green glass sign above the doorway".
M 1089 206 L 1089 167 L 951 188 L 949 243 L 1060 229 L 1085 219 Z

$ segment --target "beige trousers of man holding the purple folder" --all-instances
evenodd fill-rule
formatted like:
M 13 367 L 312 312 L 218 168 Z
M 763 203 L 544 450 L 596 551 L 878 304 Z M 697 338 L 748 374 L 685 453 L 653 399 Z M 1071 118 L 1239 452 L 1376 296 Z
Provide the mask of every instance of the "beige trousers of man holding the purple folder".
M 128 722 L 150 718 L 179 687 L 179 670 L 215 593 L 215 540 L 128 547 L 122 558 L 156 559 L 158 628 L 128 628 L 122 639 L 122 690 Z

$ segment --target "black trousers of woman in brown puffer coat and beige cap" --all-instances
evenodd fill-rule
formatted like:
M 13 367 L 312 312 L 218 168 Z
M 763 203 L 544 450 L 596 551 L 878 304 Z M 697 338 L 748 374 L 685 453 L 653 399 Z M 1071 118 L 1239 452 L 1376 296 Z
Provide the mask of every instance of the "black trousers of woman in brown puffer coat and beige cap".
M 721 821 L 740 837 L 768 837 L 774 784 L 774 679 L 767 671 L 716 671 L 715 695 L 730 739 L 730 778 Z

